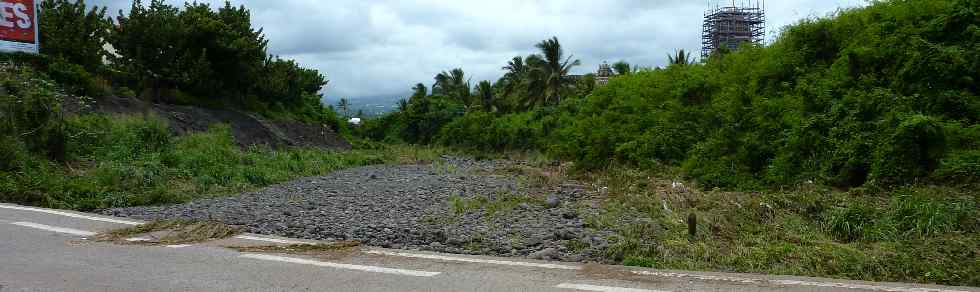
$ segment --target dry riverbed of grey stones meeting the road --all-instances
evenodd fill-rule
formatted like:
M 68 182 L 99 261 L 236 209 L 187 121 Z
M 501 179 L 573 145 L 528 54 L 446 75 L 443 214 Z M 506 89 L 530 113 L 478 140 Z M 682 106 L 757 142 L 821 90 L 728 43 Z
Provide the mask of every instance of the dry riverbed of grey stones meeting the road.
M 215 220 L 248 232 L 370 246 L 538 259 L 600 260 L 608 234 L 586 228 L 573 183 L 535 185 L 514 161 L 454 157 L 342 170 L 238 196 L 105 210 L 144 220 Z

